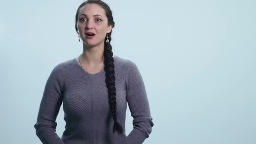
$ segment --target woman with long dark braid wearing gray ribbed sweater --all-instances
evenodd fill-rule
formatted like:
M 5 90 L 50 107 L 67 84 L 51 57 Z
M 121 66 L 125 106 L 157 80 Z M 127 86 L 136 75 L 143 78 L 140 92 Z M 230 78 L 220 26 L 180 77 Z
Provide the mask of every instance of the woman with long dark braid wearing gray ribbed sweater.
M 75 16 L 83 53 L 53 68 L 34 125 L 43 144 L 142 144 L 152 131 L 147 94 L 133 61 L 113 56 L 112 11 L 101 0 L 82 3 Z M 63 102 L 65 131 L 56 134 Z M 133 130 L 125 134 L 126 103 Z M 117 131 L 117 132 L 115 132 Z

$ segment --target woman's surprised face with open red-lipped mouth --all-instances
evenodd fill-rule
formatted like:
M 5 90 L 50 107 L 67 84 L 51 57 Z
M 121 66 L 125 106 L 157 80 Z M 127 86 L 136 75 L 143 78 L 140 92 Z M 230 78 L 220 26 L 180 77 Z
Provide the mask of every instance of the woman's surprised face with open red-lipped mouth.
M 107 24 L 105 10 L 100 5 L 90 3 L 80 8 L 77 19 L 77 29 L 83 43 L 88 46 L 104 44 L 107 33 L 112 26 Z M 85 33 L 93 32 L 95 35 L 89 38 Z

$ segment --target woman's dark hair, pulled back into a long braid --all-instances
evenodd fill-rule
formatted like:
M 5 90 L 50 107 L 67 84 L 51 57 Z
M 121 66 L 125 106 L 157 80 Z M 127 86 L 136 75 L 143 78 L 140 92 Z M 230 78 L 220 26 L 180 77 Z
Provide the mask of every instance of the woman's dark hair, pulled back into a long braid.
M 100 5 L 104 10 L 105 10 L 105 14 L 107 16 L 108 19 L 108 25 L 111 24 L 112 28 L 115 26 L 115 22 L 113 21 L 113 16 L 112 16 L 112 11 L 110 10 L 109 6 L 104 3 L 101 0 L 87 0 L 85 2 L 83 2 L 78 8 L 77 8 L 77 13 L 75 15 L 75 29 L 77 31 L 78 34 L 78 29 L 77 29 L 77 16 L 79 13 L 80 8 L 82 8 L 84 5 L 88 4 L 88 3 L 95 3 Z M 115 65 L 114 65 L 114 58 L 113 58 L 113 52 L 112 52 L 112 46 L 110 45 L 110 41 L 111 41 L 111 32 L 109 32 L 108 34 L 108 39 L 109 39 L 109 43 L 106 42 L 107 38 L 105 37 L 104 40 L 104 70 L 106 72 L 106 85 L 107 85 L 107 89 L 108 89 L 108 97 L 109 97 L 109 106 L 111 109 L 111 113 L 112 113 L 112 117 L 114 120 L 114 127 L 113 127 L 113 132 L 115 132 L 115 130 L 118 133 L 123 133 L 123 128 L 122 125 L 120 125 L 120 123 L 117 122 L 117 102 L 116 102 L 116 88 L 115 88 Z M 107 36 L 107 35 L 106 35 Z M 102 57 L 103 57 L 102 56 Z

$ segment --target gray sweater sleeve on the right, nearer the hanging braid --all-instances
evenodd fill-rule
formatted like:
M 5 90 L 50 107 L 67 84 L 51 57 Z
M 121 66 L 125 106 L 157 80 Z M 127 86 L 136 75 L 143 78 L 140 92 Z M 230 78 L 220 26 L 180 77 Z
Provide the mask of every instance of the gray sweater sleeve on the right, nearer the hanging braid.
M 133 117 L 133 130 L 120 144 L 142 144 L 149 137 L 154 123 L 150 115 L 144 81 L 138 67 L 133 61 L 128 60 L 126 68 L 128 69 L 126 98 Z

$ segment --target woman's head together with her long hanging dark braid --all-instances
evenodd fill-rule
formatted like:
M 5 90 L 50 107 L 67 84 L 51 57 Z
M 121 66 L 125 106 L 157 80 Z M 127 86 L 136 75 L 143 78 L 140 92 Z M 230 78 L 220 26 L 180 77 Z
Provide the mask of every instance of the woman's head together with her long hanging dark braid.
M 115 22 L 113 20 L 112 11 L 109 6 L 101 0 L 87 0 L 77 9 L 75 15 L 75 29 L 83 40 L 83 43 L 88 46 L 104 43 L 104 53 L 102 57 L 104 57 L 105 82 L 109 98 L 108 103 L 114 121 L 113 132 L 116 130 L 118 133 L 124 133 L 125 129 L 117 122 L 115 65 L 112 46 L 110 44 L 112 28 L 114 26 Z M 93 32 L 95 36 L 89 40 L 86 38 L 85 32 Z M 107 36 L 108 42 L 106 41 Z

